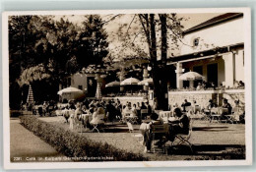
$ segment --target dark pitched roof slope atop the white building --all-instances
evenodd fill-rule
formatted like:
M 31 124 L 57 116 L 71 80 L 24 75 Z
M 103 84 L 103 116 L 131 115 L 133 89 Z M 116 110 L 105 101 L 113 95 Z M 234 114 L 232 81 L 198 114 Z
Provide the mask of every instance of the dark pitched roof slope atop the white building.
M 204 23 L 201 23 L 195 27 L 192 27 L 191 29 L 186 29 L 183 31 L 183 34 L 187 34 L 187 33 L 199 30 L 199 29 L 208 28 L 208 27 L 223 23 L 225 21 L 228 21 L 228 20 L 231 20 L 234 18 L 238 18 L 238 17 L 242 17 L 242 16 L 243 16 L 242 13 L 225 13 L 223 15 L 212 18 Z

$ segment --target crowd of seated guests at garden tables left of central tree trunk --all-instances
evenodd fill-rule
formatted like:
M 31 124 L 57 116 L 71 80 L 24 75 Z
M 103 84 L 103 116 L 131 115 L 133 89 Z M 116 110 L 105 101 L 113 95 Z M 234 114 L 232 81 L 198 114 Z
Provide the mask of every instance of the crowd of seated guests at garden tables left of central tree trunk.
M 104 114 L 104 122 L 125 122 L 125 114 L 128 113 L 132 117 L 137 117 L 138 121 L 141 121 L 141 109 L 148 109 L 148 114 L 151 114 L 153 111 L 148 101 L 136 102 L 134 104 L 127 101 L 125 104 L 122 104 L 119 99 L 85 99 L 83 102 L 69 100 L 67 105 L 61 108 L 64 111 L 74 111 L 74 115 L 72 116 L 70 113 L 63 114 L 67 123 L 69 120 L 82 120 L 86 129 L 92 129 L 93 126 L 91 123 L 96 122 L 96 116 L 99 114 Z M 82 114 L 85 118 L 82 118 Z

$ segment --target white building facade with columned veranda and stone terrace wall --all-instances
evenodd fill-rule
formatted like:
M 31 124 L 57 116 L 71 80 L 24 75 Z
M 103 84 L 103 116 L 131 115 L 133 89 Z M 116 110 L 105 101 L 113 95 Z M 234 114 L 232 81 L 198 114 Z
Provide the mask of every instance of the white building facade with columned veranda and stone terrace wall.
M 227 13 L 183 32 L 180 55 L 167 62 L 175 69 L 175 86 L 172 85 L 168 96 L 170 104 L 197 99 L 204 106 L 205 99 L 214 99 L 222 105 L 223 98 L 232 105 L 235 99 L 242 99 L 244 104 L 244 89 L 236 86 L 238 82 L 244 83 L 243 28 L 243 14 Z M 202 81 L 191 84 L 180 80 L 180 76 L 189 71 L 202 75 L 204 81 L 215 88 L 196 90 Z

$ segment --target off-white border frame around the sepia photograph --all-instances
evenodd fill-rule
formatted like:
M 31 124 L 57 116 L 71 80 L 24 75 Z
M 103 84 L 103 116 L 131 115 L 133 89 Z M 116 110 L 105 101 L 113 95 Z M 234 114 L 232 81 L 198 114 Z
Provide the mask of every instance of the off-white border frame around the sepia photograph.
M 197 161 L 143 161 L 143 162 L 10 162 L 10 115 L 9 115 L 9 61 L 8 16 L 12 15 L 85 15 L 85 14 L 138 14 L 138 13 L 243 13 L 245 56 L 245 160 L 197 160 Z M 78 10 L 78 11 L 23 11 L 4 12 L 2 15 L 3 47 L 3 135 L 5 169 L 70 169 L 70 168 L 138 168 L 138 167 L 186 167 L 186 166 L 238 166 L 252 165 L 252 83 L 251 83 L 251 10 L 250 8 L 195 8 L 150 10 Z M 100 165 L 99 165 L 100 164 Z

